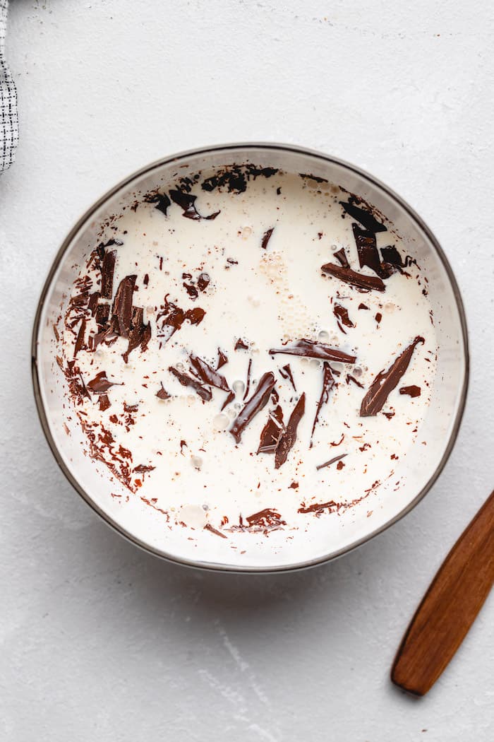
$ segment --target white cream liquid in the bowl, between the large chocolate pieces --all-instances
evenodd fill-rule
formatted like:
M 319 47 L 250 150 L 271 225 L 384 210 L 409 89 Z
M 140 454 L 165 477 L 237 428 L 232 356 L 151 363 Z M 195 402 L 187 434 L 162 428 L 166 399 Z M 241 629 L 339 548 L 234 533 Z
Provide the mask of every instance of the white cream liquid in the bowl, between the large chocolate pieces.
M 278 173 L 251 179 L 244 192 L 231 193 L 226 188 L 204 191 L 201 181 L 192 190 L 197 211 L 204 216 L 219 211 L 214 219 L 186 218 L 177 203 L 171 203 L 165 215 L 156 203 L 139 199 L 135 211 L 127 209 L 103 229 L 102 243 L 121 242 L 106 248 L 116 251 L 113 298 L 121 280 L 136 275 L 132 301 L 144 309 L 151 336 L 147 348 L 133 349 L 125 363 L 126 338 L 112 338 L 109 345 L 92 349 L 96 320 L 83 303 L 69 309 L 57 328 L 61 365 L 66 375 L 82 379 L 87 395 L 70 398 L 67 430 L 80 437 L 89 456 L 96 454 L 110 464 L 102 476 L 113 480 L 112 491 L 122 507 L 128 496 L 141 497 L 170 528 L 207 526 L 227 535 L 232 528 L 290 530 L 308 528 L 314 517 L 335 517 L 336 511 L 357 503 L 372 509 L 373 492 L 381 482 L 395 478 L 398 490 L 398 464 L 415 439 L 422 440 L 421 421 L 433 388 L 436 339 L 421 270 L 412 263 L 408 275 L 394 272 L 384 280 L 384 292 L 362 292 L 322 275 L 321 265 L 337 263 L 334 253 L 341 247 L 352 269 L 375 275 L 358 265 L 352 228 L 358 222 L 345 214 L 339 202 L 347 201 L 349 194 L 336 185 Z M 378 246 L 394 245 L 405 257 L 407 246 L 391 224 L 387 227 L 376 234 Z M 86 293 L 96 292 L 99 260 L 93 255 L 88 263 L 79 278 Z M 198 281 L 204 274 L 209 283 L 201 290 Z M 79 281 L 74 286 L 72 296 L 81 285 Z M 184 312 L 200 308 L 204 318 L 198 324 L 186 320 L 172 332 L 173 327 L 164 324 L 170 304 Z M 347 309 L 348 324 L 338 320 L 335 304 Z M 81 318 L 82 345 L 74 358 Z M 361 417 L 361 401 L 375 376 L 418 335 L 424 344 L 415 348 L 383 410 Z M 321 406 L 312 445 L 323 362 L 269 352 L 301 338 L 356 356 L 355 364 L 330 362 L 336 384 Z M 236 349 L 239 339 L 247 349 Z M 235 394 L 224 410 L 226 391 L 211 387 L 212 398 L 203 401 L 170 372 L 174 367 L 190 375 L 191 354 L 216 369 L 218 349 L 227 357 L 219 373 Z M 286 364 L 295 389 L 280 372 Z M 110 406 L 104 410 L 101 394 L 90 389 L 101 372 L 114 383 L 107 390 Z M 272 399 L 245 427 L 238 444 L 230 433 L 266 372 L 276 377 L 285 426 L 305 395 L 296 440 L 278 469 L 273 454 L 257 453 L 261 431 L 275 407 Z M 420 387 L 420 395 L 400 393 L 412 385 Z M 156 396 L 161 389 L 169 398 Z

